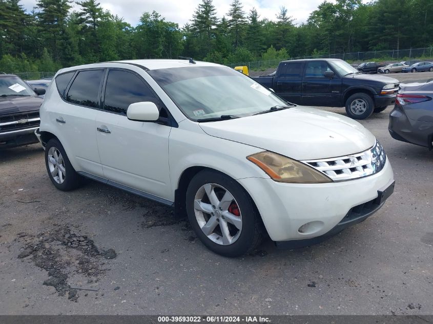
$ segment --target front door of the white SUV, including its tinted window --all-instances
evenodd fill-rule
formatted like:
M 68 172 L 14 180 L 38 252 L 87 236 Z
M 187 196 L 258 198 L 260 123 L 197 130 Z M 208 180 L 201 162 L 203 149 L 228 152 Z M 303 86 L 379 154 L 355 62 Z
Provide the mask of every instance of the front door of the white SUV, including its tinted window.
M 168 199 L 171 127 L 127 117 L 134 102 L 152 101 L 163 109 L 159 98 L 138 74 L 124 69 L 109 69 L 103 93 L 96 139 L 105 178 Z

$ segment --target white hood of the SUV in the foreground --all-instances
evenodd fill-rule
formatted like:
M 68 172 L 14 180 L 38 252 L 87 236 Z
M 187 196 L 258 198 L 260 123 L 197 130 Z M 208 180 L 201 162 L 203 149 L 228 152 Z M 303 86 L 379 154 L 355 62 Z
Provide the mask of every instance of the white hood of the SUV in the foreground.
M 199 125 L 208 135 L 296 160 L 355 154 L 376 141 L 372 133 L 350 118 L 303 106 Z

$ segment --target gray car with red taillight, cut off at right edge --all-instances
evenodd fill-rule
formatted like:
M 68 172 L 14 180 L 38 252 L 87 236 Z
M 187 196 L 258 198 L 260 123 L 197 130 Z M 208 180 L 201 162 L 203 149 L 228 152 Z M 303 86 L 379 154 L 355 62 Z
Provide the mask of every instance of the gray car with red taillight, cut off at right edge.
M 400 84 L 389 114 L 389 134 L 399 141 L 433 148 L 433 81 Z

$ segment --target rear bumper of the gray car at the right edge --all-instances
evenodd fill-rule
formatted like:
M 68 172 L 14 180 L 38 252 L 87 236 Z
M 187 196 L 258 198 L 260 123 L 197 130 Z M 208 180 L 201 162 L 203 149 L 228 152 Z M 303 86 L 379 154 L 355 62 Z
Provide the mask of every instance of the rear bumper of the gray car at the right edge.
M 398 141 L 433 149 L 433 123 L 409 119 L 398 104 L 389 113 L 388 132 Z

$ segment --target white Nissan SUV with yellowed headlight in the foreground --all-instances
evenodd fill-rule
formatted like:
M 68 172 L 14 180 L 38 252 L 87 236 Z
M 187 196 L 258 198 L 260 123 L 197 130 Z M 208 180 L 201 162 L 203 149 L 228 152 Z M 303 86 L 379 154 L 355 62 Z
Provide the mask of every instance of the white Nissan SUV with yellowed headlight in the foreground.
M 37 136 L 60 190 L 83 177 L 173 206 L 212 251 L 323 241 L 393 192 L 358 122 L 296 106 L 228 67 L 131 60 L 60 70 Z

